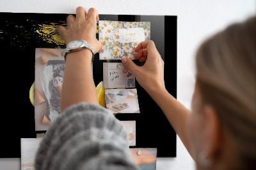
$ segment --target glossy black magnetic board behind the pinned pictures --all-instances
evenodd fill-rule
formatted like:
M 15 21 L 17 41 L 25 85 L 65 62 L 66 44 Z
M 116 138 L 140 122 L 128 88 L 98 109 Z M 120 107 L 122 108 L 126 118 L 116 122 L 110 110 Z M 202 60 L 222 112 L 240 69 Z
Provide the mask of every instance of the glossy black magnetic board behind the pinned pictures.
M 0 13 L 1 45 L 1 140 L 0 158 L 20 157 L 20 138 L 36 137 L 35 107 L 29 89 L 35 81 L 35 48 L 65 48 L 49 43 L 36 33 L 42 24 L 65 25 L 69 14 Z M 76 15 L 74 15 L 76 16 Z M 164 60 L 166 89 L 177 95 L 177 16 L 99 15 L 100 20 L 151 22 L 151 40 Z M 57 32 L 58 33 L 58 32 Z M 53 34 L 57 34 L 53 33 Z M 98 35 L 97 35 L 98 36 Z M 99 54 L 93 61 L 95 84 L 103 81 Z M 111 61 L 110 61 L 111 62 Z M 121 62 L 121 61 L 115 61 Z M 137 65 L 143 65 L 134 61 Z M 136 146 L 157 148 L 157 157 L 176 157 L 176 134 L 161 109 L 136 82 L 139 114 L 117 114 L 118 120 L 136 120 Z

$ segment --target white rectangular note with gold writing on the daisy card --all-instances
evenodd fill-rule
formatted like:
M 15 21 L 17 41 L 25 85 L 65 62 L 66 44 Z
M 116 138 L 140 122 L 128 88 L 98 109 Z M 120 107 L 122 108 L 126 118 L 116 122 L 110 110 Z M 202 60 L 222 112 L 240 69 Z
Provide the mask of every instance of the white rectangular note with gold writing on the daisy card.
M 134 27 L 128 29 L 119 29 L 119 42 L 143 42 L 145 41 L 145 33 L 143 27 Z

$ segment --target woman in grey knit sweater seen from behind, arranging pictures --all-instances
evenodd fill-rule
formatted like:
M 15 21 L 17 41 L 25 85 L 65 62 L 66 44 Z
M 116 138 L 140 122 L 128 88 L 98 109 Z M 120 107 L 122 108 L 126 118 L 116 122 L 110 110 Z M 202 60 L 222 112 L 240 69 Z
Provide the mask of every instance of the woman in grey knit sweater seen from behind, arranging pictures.
M 58 31 L 68 44 L 86 40 L 95 52 L 98 12 L 77 8 L 68 29 Z M 154 42 L 141 42 L 135 65 L 122 59 L 140 85 L 161 107 L 197 169 L 256 168 L 256 17 L 234 24 L 206 40 L 196 53 L 192 111 L 164 87 L 164 62 Z M 62 115 L 51 125 L 36 156 L 36 169 L 138 169 L 132 162 L 125 128 L 97 102 L 91 72 L 92 52 L 71 52 L 61 96 Z M 150 80 L 150 81 L 148 81 Z M 86 88 L 84 88 L 86 87 Z

